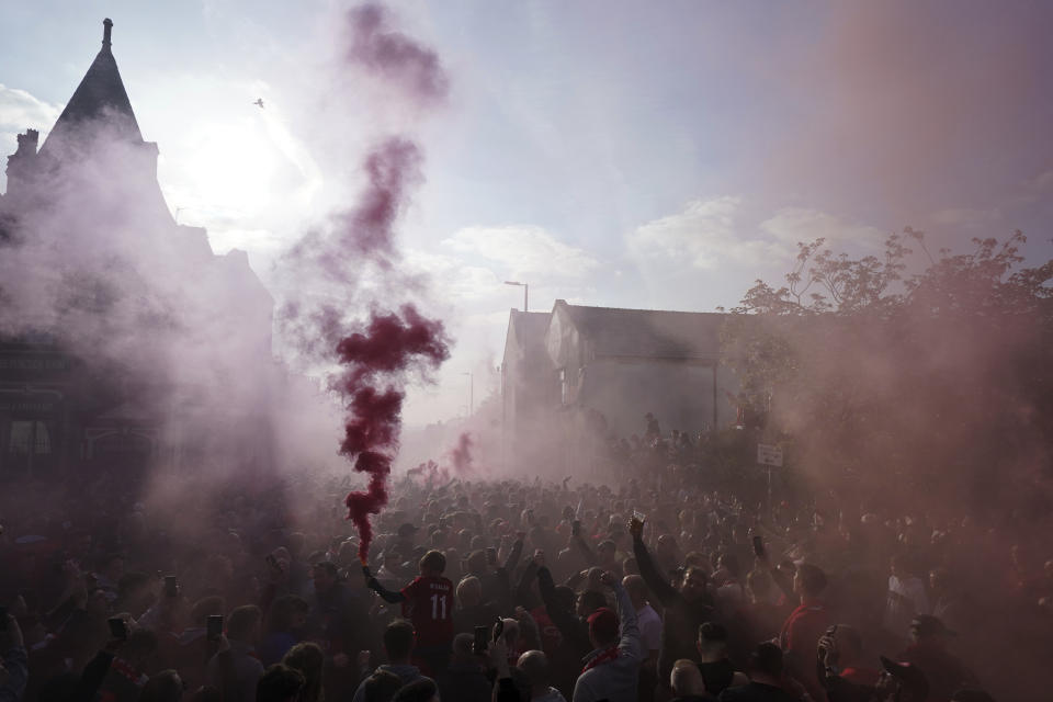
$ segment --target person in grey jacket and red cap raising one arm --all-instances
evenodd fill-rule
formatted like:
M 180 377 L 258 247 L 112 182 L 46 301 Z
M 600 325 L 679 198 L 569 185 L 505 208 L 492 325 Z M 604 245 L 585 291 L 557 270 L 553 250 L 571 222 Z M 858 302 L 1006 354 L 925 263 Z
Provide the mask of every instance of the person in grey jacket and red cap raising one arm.
M 585 667 L 574 686 L 573 702 L 636 702 L 643 660 L 636 610 L 614 575 L 604 573 L 602 582 L 614 590 L 618 613 L 601 607 L 589 615 L 593 650 L 585 657 Z

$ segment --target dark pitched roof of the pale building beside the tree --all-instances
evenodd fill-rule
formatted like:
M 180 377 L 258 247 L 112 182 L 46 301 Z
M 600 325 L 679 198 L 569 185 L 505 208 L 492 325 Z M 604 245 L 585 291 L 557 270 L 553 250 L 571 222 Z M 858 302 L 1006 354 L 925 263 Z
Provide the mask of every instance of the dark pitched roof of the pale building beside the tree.
M 564 305 L 597 356 L 713 360 L 726 315 Z

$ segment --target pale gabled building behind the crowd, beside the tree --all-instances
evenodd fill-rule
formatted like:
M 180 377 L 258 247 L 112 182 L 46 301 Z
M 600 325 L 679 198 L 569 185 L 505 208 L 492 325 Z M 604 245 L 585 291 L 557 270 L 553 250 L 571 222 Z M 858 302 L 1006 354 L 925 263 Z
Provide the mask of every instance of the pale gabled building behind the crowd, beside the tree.
M 735 421 L 726 397 L 738 385 L 720 358 L 724 319 L 563 299 L 528 324 L 513 310 L 503 367 L 507 445 L 558 441 L 570 460 L 566 445 L 642 434 L 647 412 L 666 432 L 697 434 Z M 528 415 L 537 419 L 523 421 Z

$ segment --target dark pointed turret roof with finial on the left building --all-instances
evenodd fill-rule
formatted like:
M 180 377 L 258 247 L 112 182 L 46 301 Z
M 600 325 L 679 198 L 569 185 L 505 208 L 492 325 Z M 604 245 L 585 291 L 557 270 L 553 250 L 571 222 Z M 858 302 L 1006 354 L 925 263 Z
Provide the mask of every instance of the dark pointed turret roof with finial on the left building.
M 77 86 L 73 97 L 59 115 L 41 152 L 55 150 L 56 144 L 76 141 L 79 128 L 97 120 L 103 120 L 122 139 L 143 141 L 143 133 L 139 132 L 135 112 L 132 111 L 132 101 L 128 100 L 121 71 L 117 70 L 117 61 L 111 52 L 110 34 L 113 22 L 107 18 L 102 24 L 102 49 Z

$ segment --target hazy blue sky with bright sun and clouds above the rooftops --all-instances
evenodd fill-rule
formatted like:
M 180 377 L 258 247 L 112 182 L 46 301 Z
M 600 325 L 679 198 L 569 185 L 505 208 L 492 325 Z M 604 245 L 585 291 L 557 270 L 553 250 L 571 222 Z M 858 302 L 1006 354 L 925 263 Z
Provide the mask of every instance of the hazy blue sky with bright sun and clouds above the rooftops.
M 1051 3 L 393 1 L 450 81 L 427 110 L 340 60 L 352 5 L 0 3 L 0 155 L 50 127 L 109 16 L 172 213 L 276 287 L 369 146 L 411 134 L 426 181 L 400 246 L 456 346 L 410 424 L 464 414 L 464 373 L 476 405 L 495 388 L 522 307 L 503 281 L 532 310 L 712 312 L 818 236 L 875 252 L 913 226 L 966 250 L 1019 228 L 1053 254 Z

